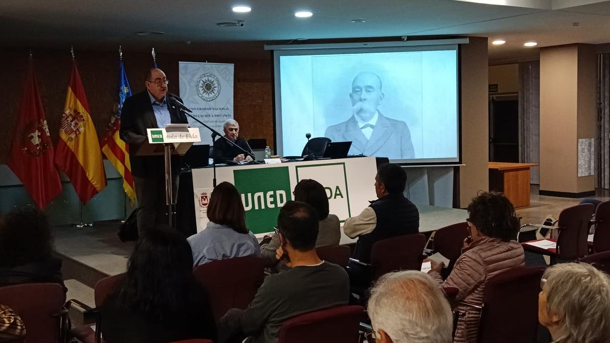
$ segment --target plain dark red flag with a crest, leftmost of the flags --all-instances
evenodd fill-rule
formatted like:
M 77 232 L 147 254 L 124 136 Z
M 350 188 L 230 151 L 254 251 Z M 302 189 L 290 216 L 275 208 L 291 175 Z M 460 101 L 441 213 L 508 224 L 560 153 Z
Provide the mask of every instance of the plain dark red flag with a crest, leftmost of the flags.
M 21 109 L 6 164 L 21 180 L 39 208 L 45 209 L 62 182 L 53 164 L 53 145 L 30 57 Z

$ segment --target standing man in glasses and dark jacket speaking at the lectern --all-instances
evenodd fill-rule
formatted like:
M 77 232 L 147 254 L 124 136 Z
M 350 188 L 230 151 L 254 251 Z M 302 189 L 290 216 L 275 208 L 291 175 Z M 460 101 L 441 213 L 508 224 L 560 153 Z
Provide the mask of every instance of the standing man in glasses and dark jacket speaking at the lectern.
M 165 204 L 165 162 L 163 156 L 135 156 L 142 143 L 148 141 L 146 129 L 165 128 L 168 124 L 187 124 L 187 117 L 168 103 L 168 96 L 182 102 L 178 96 L 167 92 L 170 81 L 159 68 L 146 72 L 146 90 L 127 99 L 121 112 L 121 139 L 129 144 L 131 173 L 134 176 L 135 194 L 138 198 L 138 234 L 157 223 L 167 223 Z M 178 178 L 181 161 L 171 159 L 172 197 L 178 197 Z

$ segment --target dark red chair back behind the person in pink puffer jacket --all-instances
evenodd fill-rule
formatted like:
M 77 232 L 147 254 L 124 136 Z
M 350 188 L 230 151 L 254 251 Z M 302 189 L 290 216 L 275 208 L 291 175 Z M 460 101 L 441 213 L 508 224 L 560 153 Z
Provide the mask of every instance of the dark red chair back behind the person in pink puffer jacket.
M 540 267 L 515 267 L 491 278 L 483 296 L 479 343 L 534 343 Z

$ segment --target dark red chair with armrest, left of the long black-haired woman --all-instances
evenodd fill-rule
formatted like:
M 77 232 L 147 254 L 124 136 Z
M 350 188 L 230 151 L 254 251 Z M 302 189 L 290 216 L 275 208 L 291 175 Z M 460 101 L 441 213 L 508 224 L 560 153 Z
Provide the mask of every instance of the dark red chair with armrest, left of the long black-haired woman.
M 79 339 L 84 343 L 102 343 L 102 316 L 99 311 L 100 306 L 106 300 L 110 294 L 115 292 L 120 286 L 121 282 L 125 278 L 125 273 L 120 273 L 117 275 L 107 276 L 99 280 L 95 287 L 93 288 L 93 298 L 95 300 L 95 308 L 90 308 L 89 306 L 81 303 L 78 300 L 68 300 L 66 303 L 66 308 L 70 308 L 70 306 L 77 306 L 81 309 L 84 309 L 84 317 L 85 323 L 83 325 L 79 325 L 77 327 L 73 327 L 70 329 L 70 335 L 74 338 Z M 87 320 L 88 318 L 93 317 L 93 320 Z M 91 328 L 91 323 L 95 322 L 95 331 Z

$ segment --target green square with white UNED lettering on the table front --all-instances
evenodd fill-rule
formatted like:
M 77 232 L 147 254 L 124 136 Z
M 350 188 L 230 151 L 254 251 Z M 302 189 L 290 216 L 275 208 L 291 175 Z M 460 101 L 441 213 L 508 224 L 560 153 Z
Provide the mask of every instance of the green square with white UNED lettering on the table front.
M 253 233 L 273 231 L 279 209 L 291 200 L 288 167 L 234 170 L 235 187 L 242 195 L 246 226 Z

